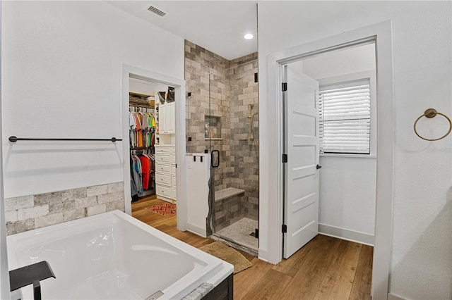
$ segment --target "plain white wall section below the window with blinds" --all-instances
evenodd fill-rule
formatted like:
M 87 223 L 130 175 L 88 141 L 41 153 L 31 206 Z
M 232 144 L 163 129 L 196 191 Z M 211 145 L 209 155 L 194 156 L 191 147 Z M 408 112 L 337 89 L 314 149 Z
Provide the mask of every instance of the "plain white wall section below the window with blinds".
M 320 164 L 319 223 L 328 227 L 319 231 L 343 229 L 337 236 L 347 239 L 361 232 L 357 242 L 373 244 L 367 235 L 375 229 L 376 158 L 321 156 Z

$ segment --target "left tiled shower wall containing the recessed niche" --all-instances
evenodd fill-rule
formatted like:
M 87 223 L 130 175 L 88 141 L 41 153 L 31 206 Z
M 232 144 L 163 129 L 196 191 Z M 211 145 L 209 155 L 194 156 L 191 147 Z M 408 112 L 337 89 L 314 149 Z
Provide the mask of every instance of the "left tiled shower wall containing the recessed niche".
M 191 92 L 191 96 L 186 99 L 186 151 L 188 153 L 204 153 L 206 149 L 220 151 L 220 167 L 215 170 L 215 190 L 225 189 L 230 183 L 230 177 L 227 176 L 231 165 L 228 157 L 229 64 L 227 59 L 185 41 L 186 92 Z M 206 139 L 206 115 L 221 118 L 221 139 Z M 191 137 L 191 141 L 188 137 Z

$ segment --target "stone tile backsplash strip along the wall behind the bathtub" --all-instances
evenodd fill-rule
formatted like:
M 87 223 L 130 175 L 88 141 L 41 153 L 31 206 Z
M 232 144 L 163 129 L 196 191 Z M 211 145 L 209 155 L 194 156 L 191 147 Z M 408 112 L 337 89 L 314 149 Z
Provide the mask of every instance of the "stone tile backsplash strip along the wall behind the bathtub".
M 6 234 L 124 211 L 124 182 L 5 199 Z

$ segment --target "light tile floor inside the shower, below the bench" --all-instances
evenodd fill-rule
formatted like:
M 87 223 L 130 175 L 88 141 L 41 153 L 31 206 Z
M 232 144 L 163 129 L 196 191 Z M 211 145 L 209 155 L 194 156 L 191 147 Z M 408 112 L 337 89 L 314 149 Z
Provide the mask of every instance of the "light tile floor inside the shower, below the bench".
M 258 228 L 259 223 L 257 220 L 251 220 L 249 218 L 242 218 L 236 223 L 218 230 L 217 235 L 232 239 L 233 242 L 246 246 L 249 249 L 257 251 L 258 249 L 258 239 L 251 236 L 254 235 L 254 230 Z

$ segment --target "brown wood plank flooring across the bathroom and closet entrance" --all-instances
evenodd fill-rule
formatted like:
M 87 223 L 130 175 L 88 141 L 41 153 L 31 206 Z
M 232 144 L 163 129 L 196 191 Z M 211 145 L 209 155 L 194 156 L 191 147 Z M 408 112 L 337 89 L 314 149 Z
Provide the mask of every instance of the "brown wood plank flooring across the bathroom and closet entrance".
M 177 230 L 176 216 L 163 217 L 145 209 L 162 202 L 153 196 L 134 202 L 132 215 L 196 248 L 213 242 Z M 371 299 L 371 246 L 317 235 L 278 265 L 241 253 L 253 266 L 234 275 L 234 299 Z

